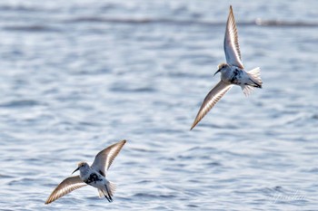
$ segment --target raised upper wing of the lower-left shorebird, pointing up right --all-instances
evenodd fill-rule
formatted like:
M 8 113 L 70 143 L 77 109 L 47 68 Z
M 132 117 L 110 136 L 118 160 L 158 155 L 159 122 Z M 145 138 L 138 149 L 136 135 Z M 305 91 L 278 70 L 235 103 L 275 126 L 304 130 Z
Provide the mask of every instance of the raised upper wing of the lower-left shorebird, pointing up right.
M 123 148 L 126 140 L 121 140 L 100 151 L 92 164 L 92 168 L 98 171 L 101 175 L 105 176 L 105 171 L 112 165 L 114 158 L 118 155 L 119 151 Z

